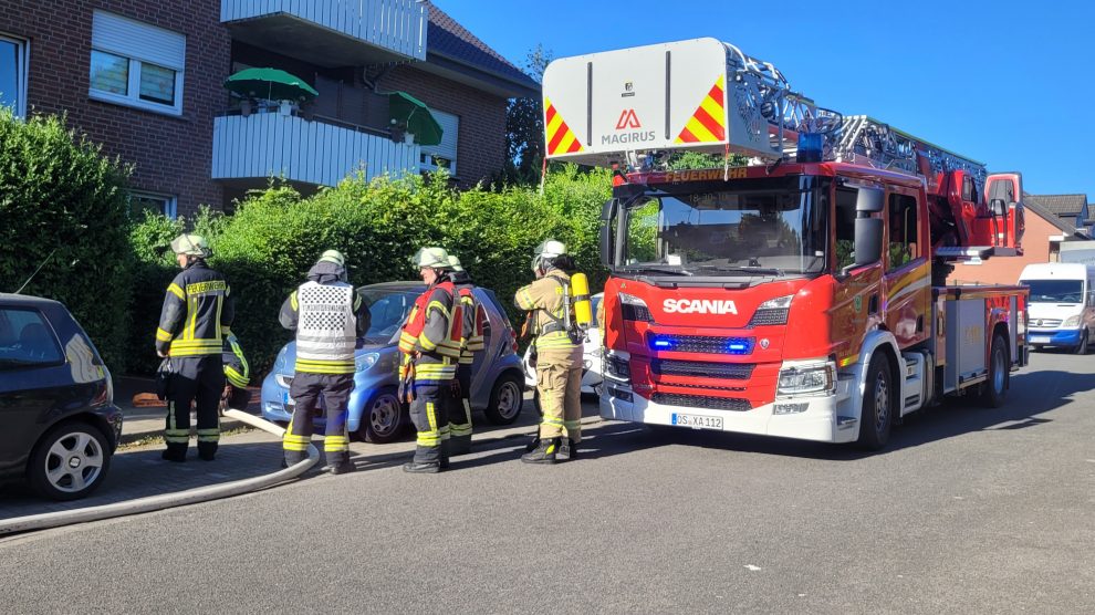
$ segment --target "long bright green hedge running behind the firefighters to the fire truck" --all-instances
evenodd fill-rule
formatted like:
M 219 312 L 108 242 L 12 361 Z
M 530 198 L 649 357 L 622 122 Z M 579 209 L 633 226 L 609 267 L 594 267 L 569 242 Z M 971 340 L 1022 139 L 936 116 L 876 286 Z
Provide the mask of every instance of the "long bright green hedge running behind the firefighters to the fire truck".
M 533 188 L 457 191 L 448 178 L 351 177 L 336 188 L 302 198 L 286 186 L 253 195 L 231 217 L 202 213 L 192 222 L 213 250 L 210 265 L 222 271 L 236 298 L 232 326 L 258 371 L 268 368 L 290 335 L 278 323 L 285 296 L 304 280 L 323 250 L 342 250 L 356 284 L 415 280 L 410 257 L 423 246 L 442 246 L 460 257 L 477 282 L 493 289 L 504 304 L 532 278 L 533 248 L 548 238 L 567 243 L 591 285 L 603 285 L 597 228 L 611 195 L 607 171 L 575 167 L 549 176 L 543 194 Z M 136 304 L 131 347 L 150 357 L 155 319 L 177 268 L 164 247 L 182 222 L 149 217 L 133 232 Z M 511 308 L 512 310 L 512 308 Z M 511 315 L 517 315 L 515 310 Z M 147 350 L 147 352 L 145 351 Z

